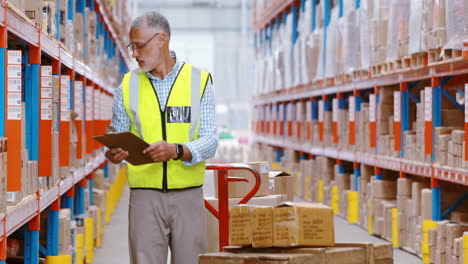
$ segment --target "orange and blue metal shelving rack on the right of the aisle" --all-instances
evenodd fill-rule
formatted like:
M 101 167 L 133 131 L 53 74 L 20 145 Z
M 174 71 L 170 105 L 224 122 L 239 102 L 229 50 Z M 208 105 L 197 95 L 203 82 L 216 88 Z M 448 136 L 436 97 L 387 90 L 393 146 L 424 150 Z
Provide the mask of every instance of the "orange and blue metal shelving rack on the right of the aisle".
M 330 20 L 330 0 L 313 0 L 312 1 L 312 12 L 315 16 L 315 5 L 318 2 L 322 2 L 325 7 L 324 11 L 324 30 L 326 31 L 329 20 Z M 257 43 L 262 43 L 262 41 L 270 41 L 270 36 L 273 35 L 271 31 L 276 30 L 272 25 L 275 23 L 281 23 L 281 18 L 286 17 L 286 14 L 292 15 L 293 18 L 297 21 L 297 16 L 301 13 L 300 7 L 304 5 L 304 0 L 302 1 L 276 1 L 271 8 L 265 10 L 265 13 L 259 20 L 254 22 L 255 30 L 255 41 Z M 338 5 L 342 8 L 343 1 L 338 1 Z M 359 9 L 360 1 L 356 1 L 356 9 Z M 294 20 L 293 20 L 294 21 Z M 312 23 L 315 23 L 315 18 L 313 18 Z M 328 21 L 328 22 L 327 22 Z M 315 28 L 315 25 L 312 25 Z M 293 22 L 293 32 L 292 32 L 292 41 L 294 43 L 297 38 L 297 22 Z M 295 36 L 296 35 L 296 36 Z M 270 146 L 274 146 L 277 149 L 294 149 L 297 152 L 325 156 L 333 159 L 345 160 L 354 163 L 362 163 L 376 168 L 389 169 L 393 171 L 399 171 L 401 177 L 406 177 L 406 174 L 418 175 L 427 178 L 431 178 L 431 185 L 433 190 L 433 220 L 441 220 L 441 196 L 440 196 L 440 187 L 439 180 L 449 181 L 457 184 L 462 184 L 468 186 L 468 170 L 461 168 L 452 168 L 448 166 L 440 166 L 438 163 L 424 163 L 411 161 L 405 158 L 403 143 L 404 143 L 404 132 L 409 130 L 409 104 L 411 100 L 416 100 L 414 95 L 410 94 L 411 85 L 414 82 L 426 81 L 430 82 L 430 87 L 432 87 L 432 96 L 431 102 L 434 101 L 432 108 L 432 117 L 430 121 L 431 131 L 434 131 L 435 127 L 442 125 L 441 123 L 441 98 L 447 96 L 443 92 L 443 87 L 448 82 L 449 77 L 468 75 L 468 39 L 463 41 L 463 50 L 461 57 L 446 59 L 440 62 L 435 63 L 425 63 L 423 66 L 418 67 L 409 67 L 400 70 L 389 70 L 388 72 L 379 72 L 373 74 L 369 69 L 368 74 L 364 76 L 358 76 L 354 78 L 351 76 L 346 79 L 343 76 L 335 76 L 335 78 L 325 78 L 306 85 L 296 85 L 290 89 L 283 89 L 280 91 L 268 92 L 263 95 L 259 95 L 253 98 L 254 108 L 268 109 L 272 107 L 273 111 L 275 107 L 280 105 L 284 106 L 284 111 L 286 105 L 292 104 L 295 105 L 296 102 L 313 102 L 324 101 L 325 104 L 328 104 L 328 108 L 324 111 L 331 112 L 331 98 L 337 98 L 338 100 L 343 99 L 344 94 L 352 94 L 356 98 L 361 98 L 361 94 L 364 91 L 367 91 L 371 94 L 374 94 L 378 98 L 379 88 L 383 86 L 390 85 L 399 85 L 401 93 L 401 121 L 399 122 L 401 129 L 397 129 L 394 133 L 395 139 L 400 139 L 400 148 L 397 151 L 400 151 L 399 158 L 391 158 L 386 156 L 378 155 L 377 152 L 374 154 L 369 153 L 360 153 L 360 152 L 350 152 L 345 150 L 339 150 L 336 148 L 323 148 L 312 146 L 311 144 L 298 143 L 296 141 L 296 136 L 290 137 L 286 130 L 288 130 L 287 122 L 292 121 L 295 123 L 295 120 L 286 120 L 286 114 L 284 114 L 284 120 L 279 120 L 279 122 L 284 122 L 284 132 L 281 134 L 277 133 L 276 138 L 271 138 L 273 131 L 266 128 L 269 126 L 270 120 L 256 120 L 254 118 L 252 123 L 252 129 L 255 134 L 253 136 L 253 142 L 262 143 Z M 326 60 L 326 59 L 324 59 Z M 460 91 L 463 95 L 468 93 L 468 91 Z M 424 98 L 421 98 L 423 100 Z M 438 99 L 438 100 L 435 100 Z M 451 101 L 454 101 L 453 98 L 449 98 Z M 378 99 L 377 99 L 378 100 Z M 419 99 L 418 99 L 419 100 Z M 356 109 L 354 111 L 360 111 L 360 103 L 356 103 Z M 465 107 L 468 105 L 468 98 L 465 96 Z M 458 105 L 459 109 L 461 108 Z M 316 106 L 315 106 L 316 108 Z M 340 108 L 344 109 L 344 108 Z M 467 109 L 467 108 L 465 108 Z M 460 109 L 462 110 L 462 109 Z M 317 113 L 312 107 L 312 116 L 314 121 L 318 121 Z M 466 110 L 465 110 L 466 115 Z M 314 117 L 315 116 L 315 117 Z M 276 120 L 278 121 L 278 120 Z M 275 121 L 275 122 L 276 122 Z M 320 121 L 319 121 L 320 122 Z M 465 118 L 465 142 L 468 142 L 468 119 Z M 375 121 L 374 121 L 375 123 Z M 309 124 L 299 124 L 299 126 L 308 126 Z M 375 124 L 374 124 L 375 125 Z M 295 126 L 293 124 L 292 126 Z M 323 133 L 323 132 L 322 132 Z M 352 132 L 354 133 L 354 132 Z M 434 132 L 432 132 L 434 133 Z M 278 136 L 279 134 L 279 136 Z M 278 137 L 280 139 L 278 139 Z M 426 137 L 432 137 L 431 135 L 426 135 Z M 375 140 L 375 139 L 374 139 Z M 429 143 L 432 142 L 432 143 Z M 375 144 L 375 143 L 374 143 Z M 468 146 L 468 144 L 466 144 Z M 376 149 L 376 147 L 375 147 Z M 468 148 L 463 151 L 467 151 Z M 425 150 L 428 150 L 426 154 L 434 154 L 434 142 L 432 139 L 427 138 L 425 140 Z M 468 160 L 468 155 L 466 155 L 466 160 Z M 277 155 L 277 162 L 279 162 L 279 155 Z M 357 177 L 357 176 L 356 176 Z M 377 177 L 379 178 L 379 177 Z M 461 198 L 465 199 L 465 198 Z

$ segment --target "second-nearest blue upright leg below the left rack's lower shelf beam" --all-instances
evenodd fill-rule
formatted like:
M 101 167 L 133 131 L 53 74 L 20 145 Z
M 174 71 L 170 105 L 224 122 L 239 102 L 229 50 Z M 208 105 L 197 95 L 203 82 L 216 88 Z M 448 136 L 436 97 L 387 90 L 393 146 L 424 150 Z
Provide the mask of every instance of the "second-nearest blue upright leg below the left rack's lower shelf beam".
M 57 199 L 47 211 L 47 254 L 49 256 L 59 255 L 59 211 L 60 199 Z

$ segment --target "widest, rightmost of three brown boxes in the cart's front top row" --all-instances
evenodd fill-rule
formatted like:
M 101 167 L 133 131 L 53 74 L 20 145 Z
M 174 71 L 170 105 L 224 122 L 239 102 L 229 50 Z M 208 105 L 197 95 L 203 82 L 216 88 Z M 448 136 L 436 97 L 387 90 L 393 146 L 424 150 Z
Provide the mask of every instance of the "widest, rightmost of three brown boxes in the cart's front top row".
M 333 246 L 333 209 L 322 204 L 284 203 L 273 209 L 275 247 Z

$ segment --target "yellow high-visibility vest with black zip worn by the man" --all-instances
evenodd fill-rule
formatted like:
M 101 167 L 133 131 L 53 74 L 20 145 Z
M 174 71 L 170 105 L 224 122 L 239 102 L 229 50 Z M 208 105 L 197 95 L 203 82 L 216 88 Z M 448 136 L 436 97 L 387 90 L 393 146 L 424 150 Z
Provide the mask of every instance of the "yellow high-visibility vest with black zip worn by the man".
M 184 64 L 172 86 L 164 111 L 145 72 L 125 74 L 122 96 L 131 120 L 130 131 L 148 143 L 185 143 L 198 138 L 200 102 L 211 75 Z M 203 185 L 205 162 L 185 166 L 180 160 L 139 166 L 128 164 L 130 188 L 178 190 Z

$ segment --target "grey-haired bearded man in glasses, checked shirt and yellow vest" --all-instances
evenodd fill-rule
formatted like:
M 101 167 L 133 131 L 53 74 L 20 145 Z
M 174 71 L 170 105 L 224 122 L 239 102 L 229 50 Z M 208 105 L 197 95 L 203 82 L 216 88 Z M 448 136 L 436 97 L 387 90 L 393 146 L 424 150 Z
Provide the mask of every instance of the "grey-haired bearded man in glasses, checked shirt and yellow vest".
M 157 12 L 136 18 L 128 45 L 139 69 L 127 73 L 114 93 L 111 126 L 131 131 L 150 146 L 153 163 L 128 164 L 129 248 L 133 264 L 195 264 L 206 251 L 202 185 L 205 160 L 218 146 L 210 73 L 176 58 L 171 30 Z M 109 149 L 120 163 L 126 150 Z

